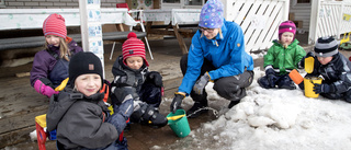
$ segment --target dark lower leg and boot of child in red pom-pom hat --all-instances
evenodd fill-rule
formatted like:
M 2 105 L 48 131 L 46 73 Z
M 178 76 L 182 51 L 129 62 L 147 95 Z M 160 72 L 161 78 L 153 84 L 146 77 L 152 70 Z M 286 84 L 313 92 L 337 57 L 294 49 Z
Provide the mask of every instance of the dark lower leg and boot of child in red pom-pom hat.
M 131 116 L 133 122 L 140 123 L 143 125 L 150 125 L 152 127 L 163 127 L 167 125 L 167 117 L 160 114 L 158 108 L 146 103 L 140 105 L 140 108 L 135 111 Z

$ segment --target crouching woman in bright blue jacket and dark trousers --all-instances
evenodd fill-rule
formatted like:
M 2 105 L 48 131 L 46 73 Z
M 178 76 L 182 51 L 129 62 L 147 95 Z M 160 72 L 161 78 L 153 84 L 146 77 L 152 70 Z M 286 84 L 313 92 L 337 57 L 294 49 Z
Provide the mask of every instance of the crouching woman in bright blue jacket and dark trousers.
M 253 79 L 253 60 L 245 51 L 241 27 L 224 19 L 219 0 L 208 0 L 202 8 L 199 31 L 189 54 L 181 59 L 181 70 L 184 78 L 170 106 L 173 113 L 189 94 L 195 101 L 186 112 L 191 114 L 189 117 L 205 113 L 206 109 L 201 108 L 207 106 L 204 88 L 208 81 L 214 81 L 214 90 L 220 96 L 231 101 L 229 107 L 246 95 L 245 88 Z

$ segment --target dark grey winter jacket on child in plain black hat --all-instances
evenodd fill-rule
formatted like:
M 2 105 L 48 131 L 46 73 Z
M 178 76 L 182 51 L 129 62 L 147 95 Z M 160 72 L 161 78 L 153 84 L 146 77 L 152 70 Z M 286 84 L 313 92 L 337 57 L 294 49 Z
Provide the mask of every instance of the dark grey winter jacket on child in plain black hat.
M 114 143 L 121 132 L 105 122 L 110 111 L 102 99 L 103 93 L 87 97 L 71 91 L 53 96 L 46 117 L 47 130 L 57 129 L 57 140 L 66 149 L 97 149 Z M 125 127 L 126 123 L 120 124 Z

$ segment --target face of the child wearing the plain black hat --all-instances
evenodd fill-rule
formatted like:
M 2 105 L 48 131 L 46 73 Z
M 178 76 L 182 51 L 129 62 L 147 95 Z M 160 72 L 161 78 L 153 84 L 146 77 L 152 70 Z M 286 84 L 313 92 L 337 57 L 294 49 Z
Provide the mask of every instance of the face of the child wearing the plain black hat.
M 97 73 L 81 74 L 76 79 L 75 85 L 79 92 L 90 96 L 101 89 L 101 78 Z

